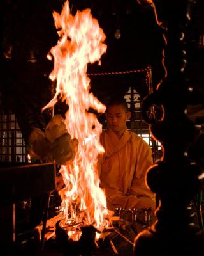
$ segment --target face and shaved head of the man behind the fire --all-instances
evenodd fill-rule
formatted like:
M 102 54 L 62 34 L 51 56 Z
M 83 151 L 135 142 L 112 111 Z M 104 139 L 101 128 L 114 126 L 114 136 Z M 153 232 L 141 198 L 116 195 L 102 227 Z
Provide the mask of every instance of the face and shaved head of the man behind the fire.
M 122 105 L 109 106 L 105 113 L 108 127 L 113 132 L 124 132 L 126 129 L 126 120 L 129 119 L 130 113 L 126 112 Z

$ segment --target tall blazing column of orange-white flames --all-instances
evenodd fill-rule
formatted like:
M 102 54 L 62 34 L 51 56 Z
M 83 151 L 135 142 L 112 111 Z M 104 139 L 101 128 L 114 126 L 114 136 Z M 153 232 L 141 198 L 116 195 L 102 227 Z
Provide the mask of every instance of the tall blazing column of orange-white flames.
M 54 98 L 42 110 L 54 106 L 59 97 L 66 100 L 69 106 L 66 127 L 71 137 L 78 139 L 74 161 L 61 168 L 66 185 L 60 191 L 64 223 L 101 227 L 107 225 L 108 214 L 97 173 L 98 154 L 104 151 L 99 142 L 102 125 L 88 110 L 103 113 L 106 107 L 89 92 L 86 72 L 87 64 L 99 61 L 106 52 L 106 36 L 89 9 L 73 16 L 67 1 L 61 14 L 53 15 L 59 41 L 50 50 L 54 57 L 50 79 L 57 80 L 57 86 Z

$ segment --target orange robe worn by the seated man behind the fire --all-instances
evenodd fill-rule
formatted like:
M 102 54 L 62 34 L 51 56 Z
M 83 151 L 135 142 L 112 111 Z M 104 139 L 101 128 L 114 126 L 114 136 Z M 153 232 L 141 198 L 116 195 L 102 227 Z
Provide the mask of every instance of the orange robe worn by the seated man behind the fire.
M 99 161 L 99 175 L 108 209 L 155 209 L 155 195 L 145 184 L 145 173 L 152 165 L 149 145 L 128 129 L 121 139 L 112 129 L 103 131 L 101 144 L 105 154 Z

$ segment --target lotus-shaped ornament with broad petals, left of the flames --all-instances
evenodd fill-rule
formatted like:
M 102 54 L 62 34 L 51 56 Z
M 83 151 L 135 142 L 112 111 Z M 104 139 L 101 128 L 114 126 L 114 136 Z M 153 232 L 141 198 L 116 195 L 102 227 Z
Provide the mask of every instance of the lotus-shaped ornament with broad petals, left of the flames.
M 61 115 L 51 118 L 45 132 L 34 128 L 29 136 L 29 154 L 33 159 L 65 165 L 73 161 L 77 149 L 78 140 L 71 139 Z

